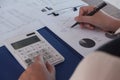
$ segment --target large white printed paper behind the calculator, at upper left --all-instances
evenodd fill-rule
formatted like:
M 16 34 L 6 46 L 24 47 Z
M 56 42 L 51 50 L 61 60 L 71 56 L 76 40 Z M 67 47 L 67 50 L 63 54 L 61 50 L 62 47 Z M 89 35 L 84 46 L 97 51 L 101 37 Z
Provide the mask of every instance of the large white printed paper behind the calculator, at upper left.
M 45 22 L 43 16 L 57 9 L 70 8 L 67 5 L 73 6 L 71 2 L 75 6 L 74 0 L 1 0 L 0 43 L 17 34 L 46 26 L 49 21 Z

